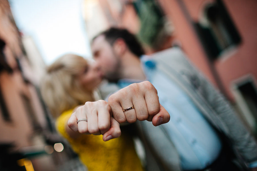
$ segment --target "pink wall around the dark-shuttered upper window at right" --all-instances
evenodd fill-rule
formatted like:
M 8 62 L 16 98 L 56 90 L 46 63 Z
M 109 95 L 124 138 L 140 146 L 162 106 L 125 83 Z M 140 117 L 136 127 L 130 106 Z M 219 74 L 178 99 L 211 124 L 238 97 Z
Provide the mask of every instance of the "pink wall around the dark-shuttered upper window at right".
M 181 1 L 194 21 L 200 20 L 207 3 L 214 2 L 213 0 Z M 228 50 L 228 52 L 219 56 L 214 65 L 229 99 L 234 101 L 231 84 L 247 74 L 252 74 L 255 79 L 257 78 L 257 2 L 254 0 L 244 3 L 239 0 L 224 0 L 223 2 L 242 41 L 236 48 Z M 208 67 L 207 56 L 202 44 L 192 25 L 187 21 L 178 1 L 159 0 L 159 3 L 167 17 L 173 22 L 175 27 L 174 37 L 181 42 L 188 58 L 217 86 Z

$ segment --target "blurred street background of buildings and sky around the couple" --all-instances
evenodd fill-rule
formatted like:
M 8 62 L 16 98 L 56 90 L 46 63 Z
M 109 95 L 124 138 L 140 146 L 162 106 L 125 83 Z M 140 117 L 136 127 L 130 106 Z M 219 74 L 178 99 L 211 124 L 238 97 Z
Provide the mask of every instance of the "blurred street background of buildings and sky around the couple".
M 42 101 L 45 66 L 111 26 L 179 46 L 257 134 L 256 0 L 0 0 L 0 170 L 85 170 Z

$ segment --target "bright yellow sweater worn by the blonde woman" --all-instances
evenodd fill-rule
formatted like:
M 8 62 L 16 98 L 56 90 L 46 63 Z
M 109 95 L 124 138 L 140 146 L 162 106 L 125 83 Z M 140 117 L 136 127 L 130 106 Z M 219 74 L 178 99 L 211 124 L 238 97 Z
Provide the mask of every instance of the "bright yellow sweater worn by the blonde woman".
M 103 141 L 103 135 L 81 135 L 77 139 L 71 138 L 65 131 L 65 125 L 71 114 L 72 110 L 69 110 L 59 116 L 56 127 L 59 133 L 69 141 L 89 171 L 143 170 L 131 137 L 121 135 L 107 142 Z

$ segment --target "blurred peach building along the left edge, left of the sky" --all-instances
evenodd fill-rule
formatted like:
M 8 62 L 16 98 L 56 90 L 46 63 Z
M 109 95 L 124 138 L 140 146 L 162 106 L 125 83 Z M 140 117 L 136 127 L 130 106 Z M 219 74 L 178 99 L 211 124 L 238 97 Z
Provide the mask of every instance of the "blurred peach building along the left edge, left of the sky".
M 21 37 L 7 1 L 1 1 L 1 142 L 13 142 L 17 148 L 32 145 L 33 127 L 45 125 L 43 110 L 35 87 L 30 84 L 23 68 L 27 63 Z M 35 106 L 35 107 L 34 107 Z

